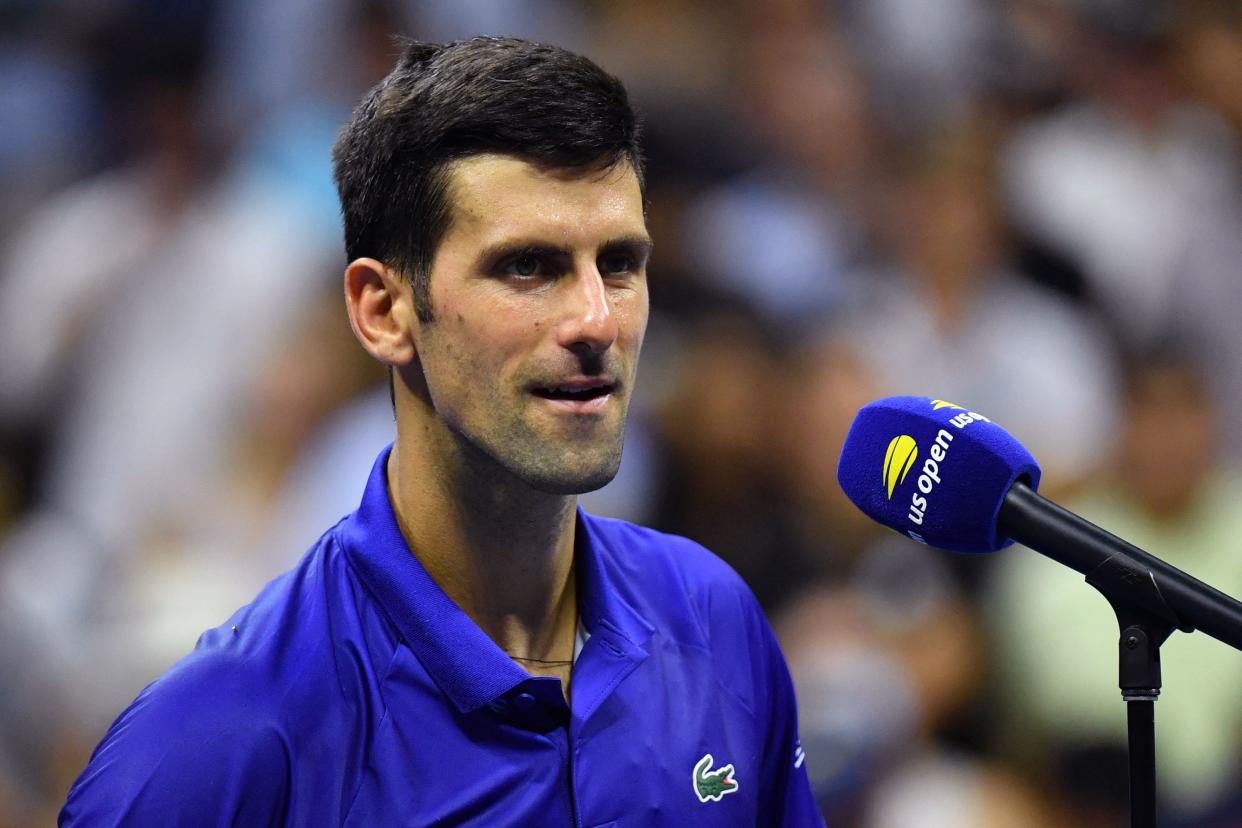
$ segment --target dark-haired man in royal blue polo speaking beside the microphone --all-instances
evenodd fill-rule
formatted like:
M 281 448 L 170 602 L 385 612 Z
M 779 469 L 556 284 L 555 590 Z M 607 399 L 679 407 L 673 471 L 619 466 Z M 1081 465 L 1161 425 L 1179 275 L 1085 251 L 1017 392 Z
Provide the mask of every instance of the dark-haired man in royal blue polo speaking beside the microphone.
M 750 592 L 576 508 L 647 320 L 625 89 L 558 48 L 410 43 L 334 156 L 396 442 L 122 714 L 62 824 L 821 824 Z

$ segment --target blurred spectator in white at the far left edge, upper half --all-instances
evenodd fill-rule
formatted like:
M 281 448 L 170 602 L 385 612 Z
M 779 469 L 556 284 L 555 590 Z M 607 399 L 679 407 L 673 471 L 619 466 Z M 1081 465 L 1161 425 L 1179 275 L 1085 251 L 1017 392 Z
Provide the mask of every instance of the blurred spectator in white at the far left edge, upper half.
M 0 272 L 0 417 L 46 420 L 63 402 L 87 339 L 137 289 L 215 173 L 189 77 L 147 83 L 133 98 L 135 156 L 50 197 L 14 235 Z

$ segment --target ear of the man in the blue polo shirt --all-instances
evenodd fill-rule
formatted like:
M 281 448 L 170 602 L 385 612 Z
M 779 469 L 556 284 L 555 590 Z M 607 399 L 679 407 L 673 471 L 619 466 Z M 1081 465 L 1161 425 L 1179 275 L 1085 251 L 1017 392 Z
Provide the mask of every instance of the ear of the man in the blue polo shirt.
M 410 283 L 374 258 L 356 258 L 345 268 L 345 309 L 354 336 L 366 353 L 390 367 L 407 365 L 417 355 Z

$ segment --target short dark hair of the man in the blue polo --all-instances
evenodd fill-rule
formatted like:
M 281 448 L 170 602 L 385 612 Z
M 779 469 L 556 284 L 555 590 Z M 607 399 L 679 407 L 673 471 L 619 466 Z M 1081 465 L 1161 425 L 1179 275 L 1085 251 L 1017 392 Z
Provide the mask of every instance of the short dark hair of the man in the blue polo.
M 452 217 L 448 165 L 487 153 L 556 169 L 628 163 L 645 191 L 625 87 L 587 58 L 512 37 L 404 41 L 396 67 L 342 129 L 333 164 L 345 254 L 401 272 L 424 322 L 431 262 Z

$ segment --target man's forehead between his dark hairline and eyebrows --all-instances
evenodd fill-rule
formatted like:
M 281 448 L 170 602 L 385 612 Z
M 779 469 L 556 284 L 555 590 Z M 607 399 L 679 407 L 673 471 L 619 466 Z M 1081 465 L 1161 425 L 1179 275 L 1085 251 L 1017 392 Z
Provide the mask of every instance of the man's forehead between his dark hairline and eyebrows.
M 646 232 L 638 178 L 628 164 L 564 169 L 476 155 L 450 166 L 447 195 L 446 242 L 468 236 L 482 245 L 512 237 L 575 245 Z

